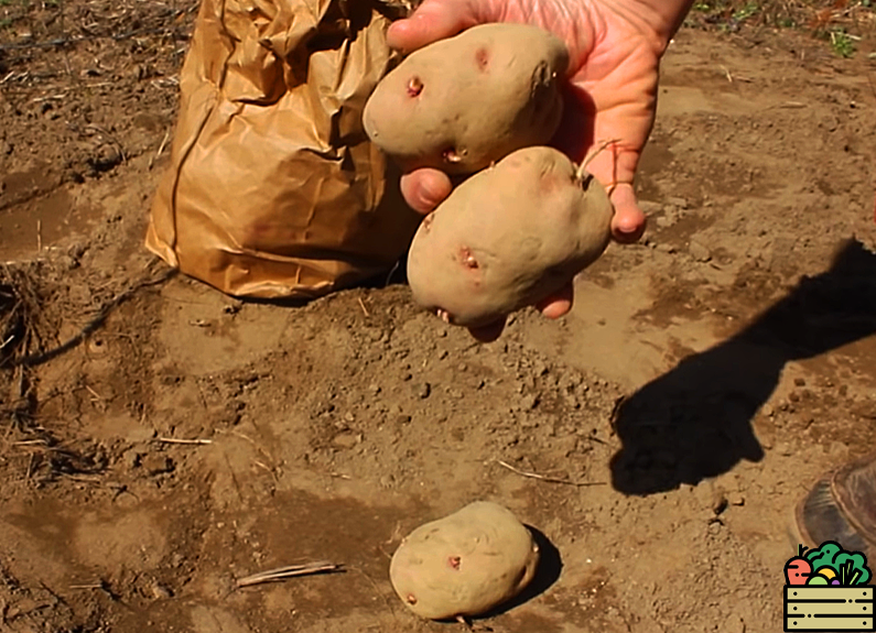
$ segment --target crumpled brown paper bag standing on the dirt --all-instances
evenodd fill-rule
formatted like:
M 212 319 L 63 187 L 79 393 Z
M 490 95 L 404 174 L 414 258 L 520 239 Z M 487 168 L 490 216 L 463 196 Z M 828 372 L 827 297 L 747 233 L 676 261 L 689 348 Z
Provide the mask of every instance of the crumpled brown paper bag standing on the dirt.
M 419 217 L 361 110 L 397 62 L 386 0 L 203 0 L 147 248 L 235 296 L 313 298 L 390 270 Z

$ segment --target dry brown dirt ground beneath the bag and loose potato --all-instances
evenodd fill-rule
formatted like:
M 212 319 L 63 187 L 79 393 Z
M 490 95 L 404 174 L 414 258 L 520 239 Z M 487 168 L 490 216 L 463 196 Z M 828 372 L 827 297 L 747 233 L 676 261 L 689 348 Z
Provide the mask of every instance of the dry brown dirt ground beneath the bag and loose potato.
M 403 284 L 253 304 L 145 252 L 177 4 L 0 30 L 0 360 L 31 354 L 0 378 L 0 631 L 454 630 L 389 557 L 476 499 L 545 539 L 497 633 L 780 631 L 789 511 L 876 444 L 873 37 L 685 26 L 646 238 L 479 345 Z M 344 571 L 235 588 L 312 560 Z

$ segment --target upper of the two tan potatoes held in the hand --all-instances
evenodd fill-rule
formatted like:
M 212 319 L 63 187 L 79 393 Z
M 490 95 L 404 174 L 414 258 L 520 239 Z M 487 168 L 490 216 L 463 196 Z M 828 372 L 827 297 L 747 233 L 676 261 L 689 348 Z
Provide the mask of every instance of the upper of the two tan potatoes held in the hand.
M 404 171 L 472 174 L 551 141 L 567 65 L 565 44 L 538 26 L 472 26 L 388 73 L 365 106 L 363 124 Z

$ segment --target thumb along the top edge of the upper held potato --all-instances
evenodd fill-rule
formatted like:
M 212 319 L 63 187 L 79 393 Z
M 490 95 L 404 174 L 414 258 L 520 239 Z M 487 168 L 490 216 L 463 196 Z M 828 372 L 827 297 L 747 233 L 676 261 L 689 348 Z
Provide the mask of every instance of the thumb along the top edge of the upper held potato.
M 424 0 L 410 18 L 389 26 L 387 43 L 402 53 L 410 53 L 484 21 L 474 0 Z

